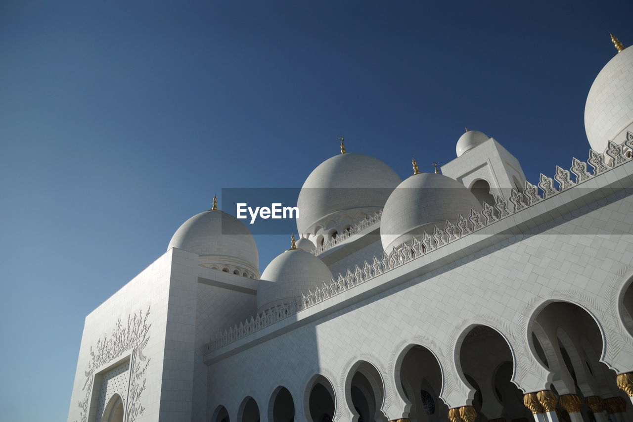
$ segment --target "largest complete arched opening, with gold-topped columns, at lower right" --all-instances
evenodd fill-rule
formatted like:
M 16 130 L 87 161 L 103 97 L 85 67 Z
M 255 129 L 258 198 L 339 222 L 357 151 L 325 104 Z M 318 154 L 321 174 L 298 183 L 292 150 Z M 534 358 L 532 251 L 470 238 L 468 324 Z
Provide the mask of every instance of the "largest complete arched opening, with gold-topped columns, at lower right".
M 603 335 L 591 314 L 575 304 L 551 302 L 537 311 L 530 326 L 530 337 L 539 343 L 553 372 L 552 390 L 558 395 L 577 395 L 586 419 L 606 422 L 603 406 L 592 403 L 626 396 L 616 385 L 615 372 L 599 361 Z M 536 357 L 543 362 L 538 350 Z M 558 411 L 569 418 L 560 400 Z

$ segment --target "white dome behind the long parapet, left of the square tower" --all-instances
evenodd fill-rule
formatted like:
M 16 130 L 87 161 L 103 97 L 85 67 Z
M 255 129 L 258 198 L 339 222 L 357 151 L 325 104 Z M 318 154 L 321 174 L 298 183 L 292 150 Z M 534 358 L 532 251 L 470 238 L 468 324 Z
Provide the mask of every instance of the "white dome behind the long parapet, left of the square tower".
M 475 195 L 460 182 L 434 173 L 420 173 L 399 184 L 382 211 L 380 240 L 385 252 L 419 236 L 432 234 L 433 226 L 454 224 L 458 216 L 481 208 Z

